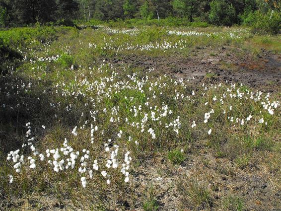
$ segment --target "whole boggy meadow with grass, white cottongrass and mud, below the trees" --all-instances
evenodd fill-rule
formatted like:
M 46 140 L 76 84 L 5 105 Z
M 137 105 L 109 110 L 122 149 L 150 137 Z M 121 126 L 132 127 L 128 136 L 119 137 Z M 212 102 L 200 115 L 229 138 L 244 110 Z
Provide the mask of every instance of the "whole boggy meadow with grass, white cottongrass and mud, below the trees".
M 0 209 L 281 209 L 280 35 L 100 25 L 0 38 Z

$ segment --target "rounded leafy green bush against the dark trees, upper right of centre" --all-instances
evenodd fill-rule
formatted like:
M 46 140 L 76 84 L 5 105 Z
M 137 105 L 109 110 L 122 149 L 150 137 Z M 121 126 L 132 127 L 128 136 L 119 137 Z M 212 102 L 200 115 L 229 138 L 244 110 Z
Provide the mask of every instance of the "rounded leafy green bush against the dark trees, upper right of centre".
M 235 8 L 225 0 L 212 0 L 209 19 L 212 24 L 232 26 L 235 23 Z

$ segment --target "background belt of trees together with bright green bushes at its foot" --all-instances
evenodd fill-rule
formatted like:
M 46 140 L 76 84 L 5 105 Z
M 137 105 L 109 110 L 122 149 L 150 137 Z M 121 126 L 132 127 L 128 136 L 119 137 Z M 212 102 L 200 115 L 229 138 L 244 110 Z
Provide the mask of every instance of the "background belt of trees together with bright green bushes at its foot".
M 31 6 L 32 5 L 32 6 Z M 127 26 L 248 25 L 258 33 L 281 30 L 280 0 L 0 0 L 0 27 L 76 26 L 124 21 Z

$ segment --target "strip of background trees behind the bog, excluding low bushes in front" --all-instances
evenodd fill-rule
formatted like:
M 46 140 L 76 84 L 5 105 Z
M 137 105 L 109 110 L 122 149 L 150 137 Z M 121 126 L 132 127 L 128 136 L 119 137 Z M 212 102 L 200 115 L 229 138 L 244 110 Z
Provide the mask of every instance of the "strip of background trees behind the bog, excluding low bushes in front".
M 0 26 L 167 17 L 231 26 L 257 11 L 280 15 L 281 0 L 0 0 Z

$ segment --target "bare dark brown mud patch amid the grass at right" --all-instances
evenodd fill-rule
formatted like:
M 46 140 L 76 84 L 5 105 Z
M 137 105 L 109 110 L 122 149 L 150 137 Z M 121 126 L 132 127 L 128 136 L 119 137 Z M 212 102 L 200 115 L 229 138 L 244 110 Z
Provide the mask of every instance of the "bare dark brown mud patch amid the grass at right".
M 281 90 L 281 55 L 265 50 L 256 58 L 247 54 L 237 56 L 237 52 L 222 48 L 216 51 L 197 49 L 190 57 L 132 55 L 109 59 L 109 62 L 144 70 L 154 68 L 175 78 L 194 77 L 199 82 L 228 81 L 264 92 Z

